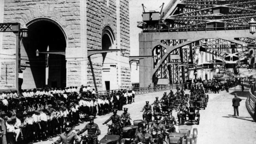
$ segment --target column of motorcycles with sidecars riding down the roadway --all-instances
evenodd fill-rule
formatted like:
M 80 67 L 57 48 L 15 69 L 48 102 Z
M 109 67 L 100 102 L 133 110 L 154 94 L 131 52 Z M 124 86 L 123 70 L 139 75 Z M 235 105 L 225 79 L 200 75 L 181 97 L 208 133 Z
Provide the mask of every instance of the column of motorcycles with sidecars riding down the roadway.
M 167 111 L 167 109 L 177 110 L 179 104 L 182 102 L 189 102 L 190 107 L 187 108 L 187 111 L 180 109 L 178 112 L 179 133 L 176 133 L 175 128 L 173 129 L 173 124 L 165 125 L 165 128 L 168 129 L 168 133 L 155 129 L 148 131 L 152 135 L 154 142 L 156 142 L 156 144 L 196 144 L 197 128 L 192 129 L 192 126 L 187 126 L 184 124 L 185 122 L 199 124 L 199 110 L 205 109 L 208 103 L 208 99 L 208 95 L 206 96 L 205 94 L 197 99 L 191 99 L 189 98 L 189 94 L 185 94 L 185 96 L 181 99 L 168 102 L 168 104 L 162 101 L 161 109 L 156 109 L 155 113 L 153 114 L 154 117 L 157 115 L 170 115 L 171 111 Z M 130 120 L 122 119 L 122 123 L 119 124 L 121 126 L 119 130 L 120 132 L 117 131 L 117 126 L 115 124 L 107 124 L 108 133 L 101 140 L 97 140 L 98 144 L 130 144 L 135 139 L 137 133 L 141 131 L 143 123 L 148 123 L 148 130 L 154 123 L 156 123 L 155 121 L 152 121 L 150 114 L 152 114 L 152 111 L 147 112 L 145 120 L 134 120 L 133 125 L 130 124 Z M 195 117 L 197 117 L 197 119 L 195 119 Z M 160 140 L 160 135 L 163 135 L 163 140 Z M 96 135 L 82 134 L 82 144 L 91 144 L 91 138 L 95 137 Z

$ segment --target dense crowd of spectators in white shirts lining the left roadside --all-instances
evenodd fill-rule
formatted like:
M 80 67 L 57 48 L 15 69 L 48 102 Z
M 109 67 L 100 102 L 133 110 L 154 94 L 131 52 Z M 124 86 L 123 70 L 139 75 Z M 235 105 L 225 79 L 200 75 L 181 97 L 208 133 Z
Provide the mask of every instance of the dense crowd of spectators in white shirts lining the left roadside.
M 111 91 L 96 95 L 89 86 L 65 89 L 31 89 L 0 93 L 2 144 L 37 142 L 65 131 L 65 122 L 73 126 L 89 121 L 89 116 L 122 110 L 134 102 L 133 90 Z

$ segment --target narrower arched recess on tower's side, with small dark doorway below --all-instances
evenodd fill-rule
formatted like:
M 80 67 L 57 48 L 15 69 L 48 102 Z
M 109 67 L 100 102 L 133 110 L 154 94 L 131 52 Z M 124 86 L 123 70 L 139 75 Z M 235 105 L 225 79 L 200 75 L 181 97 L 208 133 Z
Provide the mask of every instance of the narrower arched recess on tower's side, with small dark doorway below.
M 109 26 L 102 30 L 102 50 L 115 49 L 115 35 Z M 118 89 L 117 83 L 117 52 L 102 54 L 102 85 L 104 90 Z

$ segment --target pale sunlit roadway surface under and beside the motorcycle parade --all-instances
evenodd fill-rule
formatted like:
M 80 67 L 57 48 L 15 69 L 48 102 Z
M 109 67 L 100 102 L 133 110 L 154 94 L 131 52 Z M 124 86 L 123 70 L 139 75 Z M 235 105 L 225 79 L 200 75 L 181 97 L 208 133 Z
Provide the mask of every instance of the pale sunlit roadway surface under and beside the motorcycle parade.
M 176 90 L 174 90 L 175 92 Z M 168 92 L 167 92 L 168 93 Z M 186 93 L 189 93 L 186 90 Z M 253 122 L 250 114 L 245 107 L 245 100 L 248 92 L 236 92 L 242 99 L 239 107 L 239 116 L 232 116 L 234 110 L 232 107 L 232 98 L 234 90 L 230 93 L 221 91 L 219 94 L 209 94 L 209 102 L 205 110 L 200 110 L 200 124 L 193 125 L 198 129 L 197 144 L 255 144 L 256 140 L 256 122 Z M 163 92 L 143 94 L 135 96 L 135 103 L 124 105 L 131 114 L 132 121 L 142 119 L 141 109 L 145 101 L 154 102 L 155 97 L 163 95 Z M 117 114 L 121 114 L 118 111 Z M 102 123 L 111 116 L 112 113 L 104 116 L 97 116 L 95 123 L 99 125 L 101 135 L 99 140 L 107 133 L 108 127 Z M 176 117 L 177 112 L 173 111 Z M 87 122 L 76 126 L 75 129 L 82 129 Z M 109 122 L 111 123 L 111 122 Z M 178 129 L 178 126 L 176 127 Z M 55 141 L 58 137 L 53 138 Z M 51 144 L 53 141 L 37 142 L 37 144 Z

